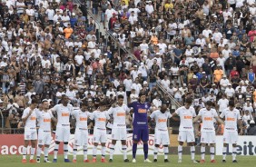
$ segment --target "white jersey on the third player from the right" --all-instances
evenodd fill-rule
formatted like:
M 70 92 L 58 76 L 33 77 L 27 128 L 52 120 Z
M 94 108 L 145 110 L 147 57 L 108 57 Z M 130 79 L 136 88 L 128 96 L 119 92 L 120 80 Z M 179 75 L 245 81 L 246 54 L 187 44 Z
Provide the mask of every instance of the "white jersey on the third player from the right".
M 184 106 L 178 108 L 175 113 L 180 116 L 181 123 L 179 131 L 193 131 L 192 118 L 196 116 L 193 107 L 186 109 Z

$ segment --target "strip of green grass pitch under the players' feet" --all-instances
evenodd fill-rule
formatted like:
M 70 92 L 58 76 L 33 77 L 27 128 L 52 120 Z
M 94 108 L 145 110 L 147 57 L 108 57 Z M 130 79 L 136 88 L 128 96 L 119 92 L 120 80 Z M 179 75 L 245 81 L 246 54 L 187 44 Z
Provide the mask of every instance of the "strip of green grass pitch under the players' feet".
M 92 156 L 88 156 L 90 160 L 92 160 Z M 255 167 L 256 166 L 256 159 L 254 156 L 237 156 L 238 163 L 232 163 L 231 162 L 231 155 L 227 156 L 227 162 L 222 163 L 222 156 L 216 156 L 216 163 L 210 162 L 210 155 L 205 155 L 206 162 L 205 163 L 192 163 L 191 162 L 191 156 L 190 155 L 183 155 L 182 156 L 182 163 L 178 163 L 178 156 L 177 155 L 169 155 L 169 161 L 168 163 L 163 162 L 163 155 L 160 155 L 158 157 L 158 162 L 152 162 L 152 163 L 145 163 L 143 162 L 143 155 L 137 156 L 137 162 L 132 163 L 132 156 L 128 155 L 128 159 L 130 162 L 124 163 L 123 162 L 123 156 L 122 155 L 115 155 L 113 156 L 113 162 L 100 162 L 101 156 L 97 156 L 97 162 L 89 162 L 84 163 L 83 162 L 83 155 L 77 155 L 77 162 L 76 163 L 65 163 L 63 155 L 60 155 L 58 157 L 57 163 L 44 163 L 43 162 L 43 155 L 41 158 L 41 163 L 22 163 L 22 155 L 0 155 L 0 166 L 1 167 L 29 167 L 29 166 L 38 166 L 38 167 L 47 167 L 47 166 L 92 166 L 92 167 L 106 167 L 106 166 L 112 166 L 112 167 L 162 167 L 162 166 L 178 166 L 178 167 L 194 167 L 194 166 L 214 166 L 214 167 L 233 167 L 233 166 L 246 166 L 246 167 Z M 27 156 L 27 160 L 29 159 L 29 156 Z M 73 160 L 73 157 L 69 155 L 69 159 Z M 106 160 L 109 159 L 109 156 L 106 156 Z M 149 159 L 153 161 L 153 155 L 149 155 Z M 49 157 L 50 161 L 53 161 L 53 156 L 51 155 Z M 196 155 L 196 160 L 200 160 L 200 155 Z

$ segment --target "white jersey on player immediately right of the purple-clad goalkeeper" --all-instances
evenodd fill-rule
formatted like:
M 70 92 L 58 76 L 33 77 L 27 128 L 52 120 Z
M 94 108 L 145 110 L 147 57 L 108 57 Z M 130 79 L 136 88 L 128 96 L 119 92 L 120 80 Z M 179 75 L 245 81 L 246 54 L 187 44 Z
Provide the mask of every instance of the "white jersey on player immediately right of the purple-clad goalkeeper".
M 172 117 L 170 112 L 162 113 L 160 110 L 156 110 L 151 113 L 150 117 L 155 120 L 155 129 L 168 130 L 167 121 Z

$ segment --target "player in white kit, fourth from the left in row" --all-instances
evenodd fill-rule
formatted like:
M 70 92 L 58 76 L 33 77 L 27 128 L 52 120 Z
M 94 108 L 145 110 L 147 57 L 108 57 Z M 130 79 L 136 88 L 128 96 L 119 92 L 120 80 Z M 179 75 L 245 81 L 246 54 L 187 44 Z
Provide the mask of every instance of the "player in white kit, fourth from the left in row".
M 87 145 L 88 145 L 88 128 L 87 120 L 91 113 L 87 112 L 86 103 L 82 103 L 81 110 L 75 110 L 71 113 L 75 120 L 75 133 L 74 133 L 74 149 L 73 149 L 73 162 L 76 162 L 76 153 L 79 146 L 83 146 L 84 162 L 89 162 L 87 159 Z

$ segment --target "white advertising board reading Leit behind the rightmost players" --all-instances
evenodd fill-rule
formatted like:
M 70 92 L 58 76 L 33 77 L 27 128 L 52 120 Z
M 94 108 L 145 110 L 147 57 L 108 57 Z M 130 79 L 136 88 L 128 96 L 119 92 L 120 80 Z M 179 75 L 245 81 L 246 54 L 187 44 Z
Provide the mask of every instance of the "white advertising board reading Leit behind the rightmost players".
M 237 142 L 238 155 L 256 155 L 256 136 L 239 136 Z M 216 155 L 222 155 L 223 137 L 216 137 Z M 228 155 L 232 153 L 231 144 L 228 146 Z

